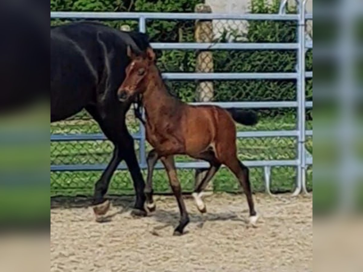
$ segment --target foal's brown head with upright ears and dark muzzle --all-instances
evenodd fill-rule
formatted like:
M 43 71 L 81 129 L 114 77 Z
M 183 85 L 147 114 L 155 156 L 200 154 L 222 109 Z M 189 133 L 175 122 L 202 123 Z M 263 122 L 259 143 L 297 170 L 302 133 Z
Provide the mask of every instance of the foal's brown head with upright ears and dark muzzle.
M 126 78 L 117 91 L 121 102 L 142 94 L 146 90 L 147 75 L 155 61 L 155 53 L 150 47 L 147 48 L 146 53 L 137 56 L 131 51 L 130 46 L 127 46 L 127 56 L 131 62 L 126 67 Z

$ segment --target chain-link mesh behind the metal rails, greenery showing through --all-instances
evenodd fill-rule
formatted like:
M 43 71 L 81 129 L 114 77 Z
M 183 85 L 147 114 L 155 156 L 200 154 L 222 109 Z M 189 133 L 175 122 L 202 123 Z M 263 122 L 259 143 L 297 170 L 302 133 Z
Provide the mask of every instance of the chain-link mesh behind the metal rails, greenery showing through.
M 268 10 L 267 12 L 272 12 Z M 52 24 L 64 21 L 56 20 Z M 127 24 L 138 30 L 134 20 L 103 21 L 116 28 Z M 198 25 L 199 24 L 199 25 Z M 201 25 L 200 25 L 201 24 Z M 151 42 L 253 42 L 296 43 L 295 21 L 243 21 L 243 20 L 148 20 L 146 30 Z M 307 28 L 309 25 L 307 25 Z M 207 29 L 206 29 L 207 28 Z M 307 33 L 310 30 L 307 29 Z M 312 39 L 312 31 L 311 31 Z M 155 50 L 157 64 L 162 72 L 202 73 L 295 73 L 296 50 Z M 306 52 L 306 70 L 312 70 L 312 50 Z M 296 101 L 296 79 L 247 79 L 186 81 L 167 80 L 170 92 L 185 102 L 217 101 Z M 312 79 L 306 79 L 306 98 L 312 100 Z M 260 117 L 254 127 L 237 125 L 238 131 L 282 131 L 297 129 L 297 109 L 257 108 Z M 312 112 L 307 110 L 306 129 L 312 129 Z M 127 114 L 127 125 L 131 133 L 139 132 L 139 122 L 132 112 Z M 51 124 L 53 135 L 99 134 L 98 124 L 82 111 L 64 121 Z M 242 161 L 295 160 L 297 137 L 250 137 L 237 140 L 238 157 Z M 139 157 L 139 141 L 135 141 Z M 306 149 L 312 154 L 312 137 L 307 137 Z M 147 151 L 150 146 L 147 145 Z M 112 156 L 113 144 L 108 140 L 55 141 L 51 142 L 51 165 L 106 165 Z M 193 161 L 178 156 L 177 162 Z M 296 167 L 273 167 L 272 191 L 291 191 L 296 180 Z M 54 171 L 51 172 L 51 194 L 91 194 L 101 171 Z M 251 169 L 251 182 L 255 191 L 264 190 L 264 169 Z M 191 191 L 195 180 L 194 170 L 178 169 L 184 191 Z M 143 169 L 146 177 L 146 170 Z M 307 185 L 312 189 L 312 168 L 307 169 Z M 154 172 L 154 190 L 169 192 L 164 170 Z M 227 169 L 221 169 L 213 179 L 215 191 L 237 191 L 238 182 Z M 113 176 L 109 193 L 132 194 L 133 187 L 127 170 L 117 170 Z

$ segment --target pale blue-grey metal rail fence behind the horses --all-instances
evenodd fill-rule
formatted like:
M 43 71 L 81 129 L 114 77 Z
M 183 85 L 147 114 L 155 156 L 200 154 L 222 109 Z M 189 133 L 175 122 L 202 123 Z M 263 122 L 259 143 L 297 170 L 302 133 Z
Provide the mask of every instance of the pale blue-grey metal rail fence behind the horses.
M 293 79 L 296 81 L 296 100 L 295 101 L 260 101 L 260 102 L 198 102 L 194 104 L 216 104 L 221 107 L 238 107 L 238 108 L 295 108 L 297 115 L 297 124 L 295 129 L 289 130 L 265 130 L 265 131 L 239 131 L 238 138 L 268 138 L 268 137 L 294 137 L 297 139 L 296 156 L 288 160 L 249 160 L 244 164 L 250 167 L 259 167 L 264 169 L 265 190 L 270 193 L 271 169 L 276 166 L 294 166 L 297 168 L 296 189 L 294 195 L 301 191 L 307 193 L 306 189 L 306 169 L 312 165 L 312 155 L 305 148 L 306 137 L 312 137 L 313 131 L 306 129 L 306 109 L 312 108 L 312 101 L 306 101 L 305 96 L 305 81 L 307 78 L 312 78 L 312 71 L 305 71 L 305 53 L 307 49 L 312 48 L 312 39 L 307 39 L 306 21 L 312 20 L 312 14 L 305 12 L 306 0 L 298 5 L 297 14 L 285 14 L 284 5 L 286 1 L 282 1 L 280 14 L 217 14 L 217 13 L 112 13 L 112 12 L 51 12 L 51 19 L 94 19 L 94 20 L 138 20 L 138 29 L 140 32 L 146 32 L 147 21 L 152 20 L 207 20 L 216 22 L 217 20 L 276 20 L 276 21 L 295 21 L 297 22 L 297 42 L 295 43 L 250 43 L 250 42 L 180 42 L 180 43 L 151 43 L 154 49 L 162 50 L 296 50 L 297 67 L 292 73 L 163 73 L 166 80 L 183 80 L 183 81 L 220 81 L 220 80 L 250 80 L 250 79 Z M 140 125 L 139 132 L 135 133 L 134 139 L 139 144 L 139 162 L 142 169 L 146 169 L 146 141 L 144 127 Z M 90 141 L 95 144 L 97 141 L 106 140 L 102 133 L 71 133 L 62 131 L 52 133 L 51 145 L 56 143 L 66 143 L 78 141 Z M 61 154 L 61 152 L 60 152 Z M 72 156 L 77 156 L 75 152 Z M 52 158 L 52 157 L 51 157 Z M 83 171 L 101 171 L 106 165 L 103 163 L 72 163 L 70 160 L 67 163 L 51 162 L 51 173 L 62 172 L 83 172 Z M 106 162 L 106 160 L 105 160 Z M 191 161 L 177 162 L 178 169 L 197 169 L 207 168 L 207 162 Z M 161 168 L 162 165 L 157 165 Z M 118 169 L 126 169 L 124 164 L 119 165 Z M 52 181 L 52 176 L 51 176 Z M 56 182 L 56 178 L 54 178 Z M 72 181 L 69 181 L 72 182 Z

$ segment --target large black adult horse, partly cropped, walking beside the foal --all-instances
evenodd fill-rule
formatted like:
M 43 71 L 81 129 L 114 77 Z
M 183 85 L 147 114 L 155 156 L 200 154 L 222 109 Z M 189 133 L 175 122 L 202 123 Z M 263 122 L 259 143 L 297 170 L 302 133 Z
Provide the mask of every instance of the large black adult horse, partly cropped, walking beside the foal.
M 127 131 L 125 114 L 130 103 L 120 103 L 117 89 L 129 63 L 127 46 L 136 51 L 149 45 L 138 32 L 121 32 L 102 24 L 78 22 L 50 30 L 51 122 L 85 108 L 114 144 L 113 157 L 95 185 L 96 213 L 105 213 L 111 177 L 125 160 L 136 191 L 135 214 L 144 215 L 144 181 L 136 160 L 134 141 Z

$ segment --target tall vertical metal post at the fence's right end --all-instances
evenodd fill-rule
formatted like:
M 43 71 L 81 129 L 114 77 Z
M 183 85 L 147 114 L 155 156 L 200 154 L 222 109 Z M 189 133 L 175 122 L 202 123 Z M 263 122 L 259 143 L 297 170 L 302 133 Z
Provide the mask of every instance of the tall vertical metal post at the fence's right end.
M 298 169 L 297 169 L 297 186 L 293 195 L 301 192 L 303 184 L 305 185 L 305 4 L 306 0 L 300 0 L 298 5 L 299 21 L 298 21 L 298 52 L 297 52 L 297 102 L 298 102 Z

